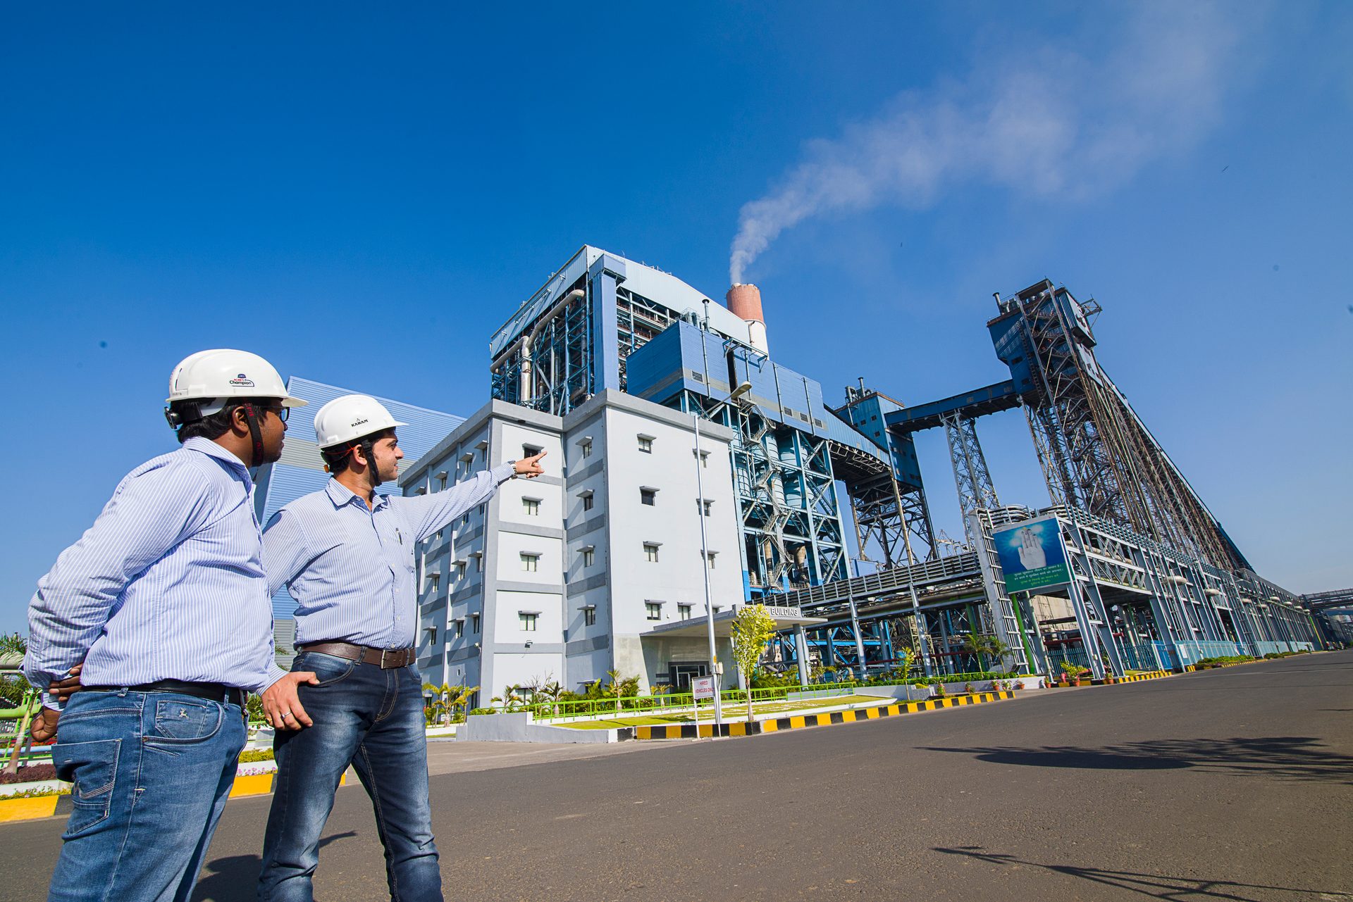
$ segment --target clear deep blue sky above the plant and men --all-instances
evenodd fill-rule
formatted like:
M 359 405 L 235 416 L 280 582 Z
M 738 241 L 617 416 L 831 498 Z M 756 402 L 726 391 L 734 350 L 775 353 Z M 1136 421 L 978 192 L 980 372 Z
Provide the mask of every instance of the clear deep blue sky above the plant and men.
M 716 298 L 751 249 L 774 356 L 833 402 L 996 381 L 993 291 L 1093 295 L 1103 364 L 1257 568 L 1353 584 L 1353 8 L 1017 7 L 8 9 L 0 630 L 173 446 L 187 353 L 465 414 L 584 242 Z M 1019 412 L 980 433 L 1001 499 L 1045 504 Z

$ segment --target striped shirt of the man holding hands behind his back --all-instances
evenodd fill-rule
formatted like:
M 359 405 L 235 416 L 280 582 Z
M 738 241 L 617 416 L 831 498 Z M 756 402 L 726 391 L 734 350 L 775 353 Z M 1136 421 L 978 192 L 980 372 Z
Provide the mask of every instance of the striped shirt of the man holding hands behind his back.
M 47 686 L 83 660 L 85 686 L 175 679 L 262 691 L 283 676 L 268 599 L 249 471 L 216 442 L 189 438 L 127 473 L 38 580 L 24 676 Z

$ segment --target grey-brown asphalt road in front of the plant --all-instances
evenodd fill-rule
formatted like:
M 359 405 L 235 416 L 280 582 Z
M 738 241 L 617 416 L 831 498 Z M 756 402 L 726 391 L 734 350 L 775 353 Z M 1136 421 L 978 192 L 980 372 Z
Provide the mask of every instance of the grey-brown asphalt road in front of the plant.
M 1353 899 L 1353 652 L 635 753 L 520 748 L 440 751 L 451 899 Z M 196 899 L 253 898 L 268 803 L 230 803 Z M 0 897 L 43 897 L 60 833 L 0 826 L 5 870 L 24 863 Z M 338 792 L 315 894 L 388 898 L 361 788 Z

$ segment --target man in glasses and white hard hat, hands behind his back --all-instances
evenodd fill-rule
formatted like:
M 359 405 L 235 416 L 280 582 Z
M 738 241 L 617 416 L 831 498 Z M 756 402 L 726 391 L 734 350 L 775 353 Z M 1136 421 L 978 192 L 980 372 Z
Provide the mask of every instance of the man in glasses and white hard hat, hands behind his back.
M 310 679 L 273 664 L 250 467 L 306 402 L 262 357 L 204 350 L 169 377 L 181 448 L 131 471 L 38 581 L 24 675 L 49 691 L 35 738 L 73 780 L 49 899 L 185 901 L 245 745 L 245 692 Z M 58 692 L 65 698 L 68 692 Z

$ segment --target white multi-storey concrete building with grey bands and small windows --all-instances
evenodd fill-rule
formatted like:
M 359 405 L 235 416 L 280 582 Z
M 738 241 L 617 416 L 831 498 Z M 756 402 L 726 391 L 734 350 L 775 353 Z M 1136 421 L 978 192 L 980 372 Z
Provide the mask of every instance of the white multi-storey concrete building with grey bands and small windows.
M 705 617 L 701 519 L 716 611 L 744 599 L 733 433 L 700 430 L 697 457 L 690 417 L 610 389 L 563 418 L 490 402 L 428 452 L 400 477 L 406 495 L 549 454 L 545 476 L 505 483 L 425 542 L 423 679 L 479 686 L 487 705 L 506 686 L 579 691 L 609 669 L 639 675 L 643 690 L 705 673 L 705 638 L 645 636 Z

